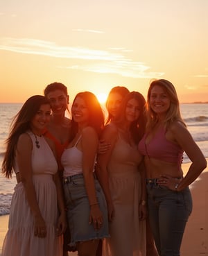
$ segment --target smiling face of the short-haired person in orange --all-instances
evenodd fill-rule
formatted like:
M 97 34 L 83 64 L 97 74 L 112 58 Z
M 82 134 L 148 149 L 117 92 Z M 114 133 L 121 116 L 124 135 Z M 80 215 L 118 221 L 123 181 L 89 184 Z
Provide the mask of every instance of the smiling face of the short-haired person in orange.
M 65 111 L 67 110 L 69 96 L 64 94 L 61 89 L 55 89 L 47 94 L 47 98 L 50 101 L 53 114 L 64 116 Z

